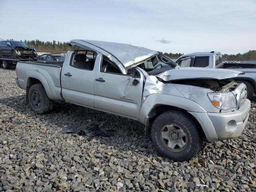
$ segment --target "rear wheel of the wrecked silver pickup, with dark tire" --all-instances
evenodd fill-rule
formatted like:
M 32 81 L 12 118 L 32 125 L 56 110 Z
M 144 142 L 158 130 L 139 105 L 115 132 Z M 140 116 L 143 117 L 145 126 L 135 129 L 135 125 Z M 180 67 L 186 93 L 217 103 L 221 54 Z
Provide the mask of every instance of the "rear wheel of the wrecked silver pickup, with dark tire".
M 52 110 L 53 102 L 50 100 L 42 84 L 34 84 L 28 92 L 30 108 L 38 114 L 43 114 Z

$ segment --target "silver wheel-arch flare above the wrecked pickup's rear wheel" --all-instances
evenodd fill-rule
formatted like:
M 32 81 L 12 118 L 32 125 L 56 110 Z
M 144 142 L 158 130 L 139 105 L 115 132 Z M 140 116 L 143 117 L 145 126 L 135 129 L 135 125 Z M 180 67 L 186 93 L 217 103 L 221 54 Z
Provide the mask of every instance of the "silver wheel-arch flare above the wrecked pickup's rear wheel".
M 40 82 L 41 82 L 41 83 L 43 84 L 43 86 L 44 86 L 44 90 L 45 90 L 47 96 L 48 96 L 50 99 L 54 100 L 54 97 L 52 96 L 52 92 L 51 92 L 51 90 L 50 90 L 49 84 L 48 84 L 46 78 L 45 78 L 40 72 L 28 70 L 28 71 L 26 72 L 26 77 L 27 77 L 27 79 L 26 79 L 27 86 L 29 86 L 29 81 L 28 81 L 29 78 L 36 78 L 36 79 L 40 80 Z

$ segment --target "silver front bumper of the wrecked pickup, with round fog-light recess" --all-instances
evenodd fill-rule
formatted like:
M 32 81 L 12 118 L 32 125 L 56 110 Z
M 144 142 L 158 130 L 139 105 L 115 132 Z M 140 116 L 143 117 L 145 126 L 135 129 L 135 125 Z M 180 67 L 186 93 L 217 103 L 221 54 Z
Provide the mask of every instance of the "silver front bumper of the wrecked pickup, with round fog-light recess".
M 240 136 L 249 117 L 251 102 L 246 99 L 239 110 L 226 113 L 207 113 L 219 140 Z

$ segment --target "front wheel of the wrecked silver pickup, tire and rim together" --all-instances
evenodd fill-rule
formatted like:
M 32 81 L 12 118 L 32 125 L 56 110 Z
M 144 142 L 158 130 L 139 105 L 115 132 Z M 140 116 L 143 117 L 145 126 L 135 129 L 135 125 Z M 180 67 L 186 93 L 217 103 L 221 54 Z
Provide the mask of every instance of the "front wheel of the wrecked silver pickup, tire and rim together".
M 151 127 L 151 139 L 160 154 L 175 161 L 190 160 L 202 148 L 202 133 L 185 112 L 160 114 Z

